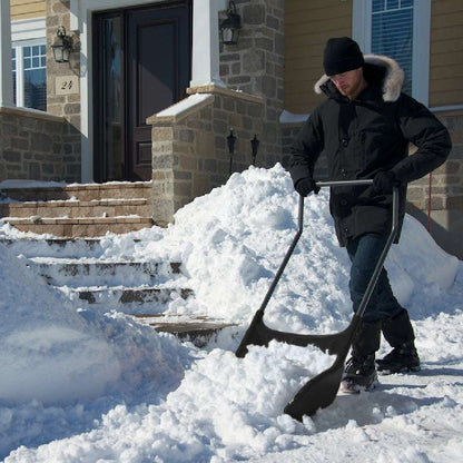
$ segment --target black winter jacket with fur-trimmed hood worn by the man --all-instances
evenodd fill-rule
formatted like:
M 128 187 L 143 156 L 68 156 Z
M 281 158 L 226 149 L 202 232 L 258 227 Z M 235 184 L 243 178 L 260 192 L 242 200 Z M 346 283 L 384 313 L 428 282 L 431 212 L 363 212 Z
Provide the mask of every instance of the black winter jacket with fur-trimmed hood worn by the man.
M 288 170 L 294 185 L 312 176 L 322 151 L 327 157 L 329 180 L 373 178 L 380 170 L 392 170 L 403 185 L 402 227 L 406 184 L 441 166 L 452 142 L 446 128 L 425 106 L 401 92 L 403 71 L 394 60 L 366 55 L 363 69 L 368 85 L 353 101 L 326 76 L 315 85 L 315 91 L 323 91 L 327 99 L 296 137 Z M 417 147 L 411 156 L 408 142 Z M 332 188 L 329 208 L 339 245 L 364 234 L 386 237 L 392 225 L 391 204 L 392 195 L 377 194 L 373 186 Z

